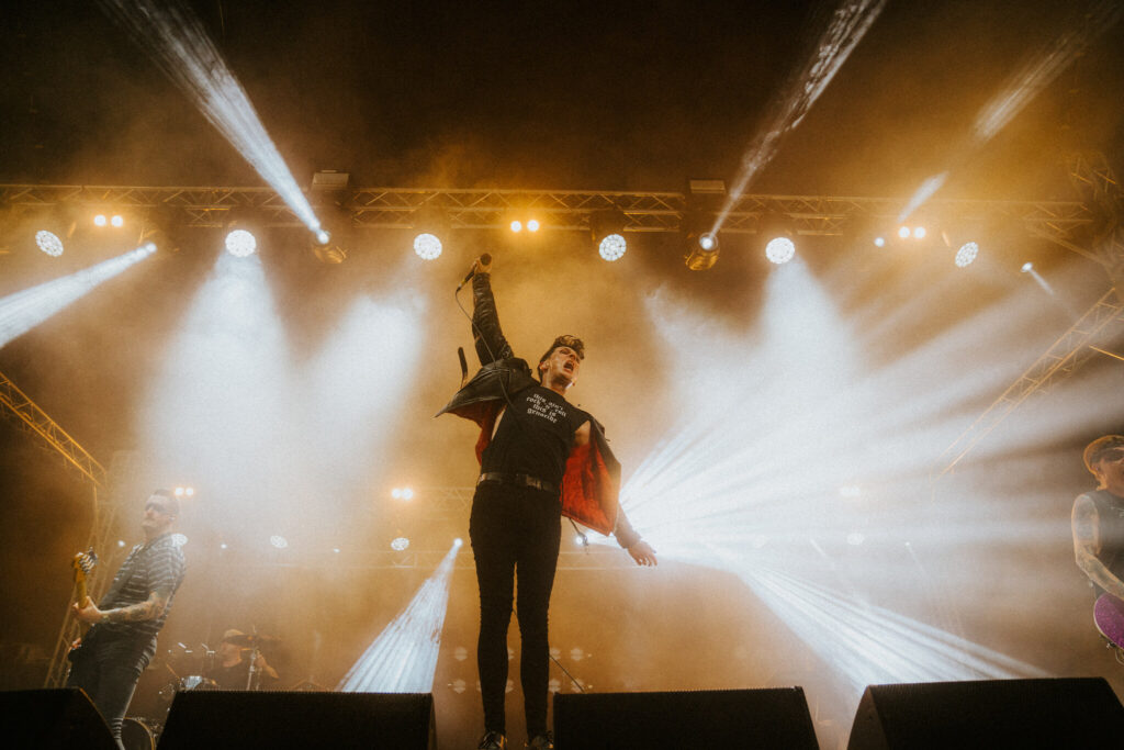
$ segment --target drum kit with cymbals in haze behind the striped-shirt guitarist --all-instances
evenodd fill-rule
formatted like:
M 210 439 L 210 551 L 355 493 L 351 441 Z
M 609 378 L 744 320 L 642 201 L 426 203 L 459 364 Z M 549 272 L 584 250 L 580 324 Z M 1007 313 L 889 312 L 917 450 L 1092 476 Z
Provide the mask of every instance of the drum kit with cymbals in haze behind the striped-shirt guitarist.
M 245 686 L 247 690 L 260 689 L 260 674 L 256 667 L 257 657 L 263 649 L 268 649 L 280 642 L 280 639 L 271 635 L 245 634 L 234 635 L 225 639 L 228 643 L 248 650 L 248 680 Z M 214 649 L 202 645 L 202 650 L 189 649 L 179 643 L 179 650 L 170 650 L 167 654 L 154 660 L 149 669 L 169 672 L 173 679 L 157 692 L 158 719 L 145 716 L 126 716 L 121 725 L 121 743 L 126 750 L 155 750 L 156 742 L 164 729 L 164 722 L 172 710 L 172 702 L 180 693 L 192 690 L 218 690 L 219 685 L 211 678 L 206 677 L 218 665 L 217 652 Z M 244 656 L 243 659 L 247 659 Z M 184 675 L 181 677 L 181 674 Z

